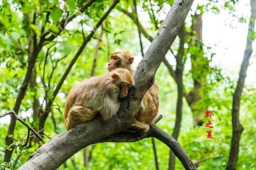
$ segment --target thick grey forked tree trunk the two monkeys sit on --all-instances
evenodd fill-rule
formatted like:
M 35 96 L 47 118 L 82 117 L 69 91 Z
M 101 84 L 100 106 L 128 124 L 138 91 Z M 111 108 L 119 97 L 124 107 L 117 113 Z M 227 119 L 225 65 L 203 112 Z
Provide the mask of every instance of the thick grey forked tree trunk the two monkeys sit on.
M 192 2 L 192 0 L 177 0 L 173 4 L 161 28 L 149 46 L 147 53 L 145 53 L 145 56 L 139 63 L 134 75 L 135 84 L 129 90 L 127 98 L 121 100 L 121 107 L 117 115 L 108 123 L 104 124 L 98 119 L 94 119 L 87 123 L 78 124 L 66 133 L 54 137 L 51 141 L 42 145 L 31 156 L 31 159 L 19 169 L 56 169 L 65 160 L 84 147 L 93 143 L 99 143 L 99 141 L 111 141 L 107 137 L 129 128 L 135 121 L 141 100 L 145 92 L 154 83 L 157 68 L 175 40 L 191 8 Z M 173 152 L 181 160 L 186 169 L 196 169 L 187 153 L 175 139 L 155 125 L 151 125 L 150 132 L 152 132 L 152 137 L 161 140 L 173 149 Z M 103 140 L 104 138 L 108 140 Z M 131 138 L 127 138 L 125 141 L 129 140 Z M 117 142 L 117 139 L 114 141 Z M 68 149 L 64 150 L 63 148 Z

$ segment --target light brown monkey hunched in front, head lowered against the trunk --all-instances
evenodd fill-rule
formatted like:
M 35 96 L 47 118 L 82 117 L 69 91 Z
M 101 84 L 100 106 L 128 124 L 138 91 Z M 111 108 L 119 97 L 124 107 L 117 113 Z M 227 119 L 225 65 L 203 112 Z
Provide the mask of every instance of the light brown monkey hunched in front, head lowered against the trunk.
M 75 85 L 65 103 L 65 127 L 69 130 L 78 123 L 90 121 L 98 113 L 104 122 L 109 121 L 119 109 L 118 98 L 126 97 L 133 84 L 131 73 L 117 68 Z

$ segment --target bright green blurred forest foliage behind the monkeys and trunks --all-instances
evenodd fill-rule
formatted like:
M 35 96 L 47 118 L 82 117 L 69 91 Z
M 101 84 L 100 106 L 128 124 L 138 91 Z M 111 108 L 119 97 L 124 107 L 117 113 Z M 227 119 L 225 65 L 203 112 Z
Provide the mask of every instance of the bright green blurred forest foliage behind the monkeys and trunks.
M 133 1 L 121 0 L 111 11 L 106 20 L 97 29 L 96 33 L 84 47 L 81 55 L 65 78 L 58 94 L 54 96 L 54 90 L 59 84 L 67 66 L 84 42 L 84 37 L 89 35 L 93 27 L 100 20 L 109 6 L 111 0 L 96 0 L 83 14 L 78 12 L 88 0 L 0 0 L 0 111 L 9 111 L 14 108 L 18 92 L 22 87 L 27 72 L 28 61 L 32 57 L 33 46 L 40 42 L 42 36 L 44 43 L 39 49 L 36 63 L 32 70 L 26 95 L 22 100 L 18 115 L 26 123 L 38 130 L 42 114 L 50 109 L 44 123 L 44 139 L 65 132 L 63 109 L 65 98 L 77 82 L 89 78 L 95 59 L 95 51 L 98 51 L 95 76 L 107 72 L 109 56 L 115 51 L 130 51 L 135 56 L 135 64 L 141 59 L 138 28 L 134 20 L 123 11 L 134 15 Z M 248 2 L 249 3 L 249 2 Z M 152 37 L 161 25 L 166 12 L 173 4 L 173 0 L 139 0 L 137 10 L 139 21 L 143 29 Z M 218 57 L 214 48 L 205 45 L 203 39 L 198 40 L 196 29 L 196 15 L 205 13 L 226 12 L 234 22 L 242 22 L 248 27 L 249 16 L 236 13 L 239 3 L 235 0 L 213 1 L 205 0 L 194 6 L 185 23 L 185 45 L 182 61 L 184 63 L 183 83 L 184 94 L 194 92 L 194 82 L 203 85 L 198 90 L 199 100 L 192 105 L 188 104 L 189 97 L 183 98 L 183 117 L 178 141 L 189 156 L 196 162 L 202 158 L 209 158 L 200 162 L 198 169 L 225 169 L 228 161 L 230 143 L 232 137 L 232 94 L 234 93 L 238 69 L 230 65 L 230 74 L 222 74 L 222 69 L 212 64 L 212 59 Z M 67 23 L 67 18 L 77 15 Z M 135 16 L 136 17 L 136 16 Z M 62 27 L 63 23 L 67 24 Z M 246 26 L 247 25 L 247 26 Z M 204 26 L 204 25 L 203 25 Z M 231 28 L 230 28 L 231 29 Z M 142 32 L 144 53 L 150 41 Z M 51 36 L 54 38 L 51 39 Z M 55 38 L 57 37 L 57 38 Z M 255 34 L 252 35 L 255 37 Z M 246 37 L 244 37 L 246 38 Z M 230 39 L 230 41 L 233 41 Z M 96 49 L 100 42 L 99 49 Z M 173 68 L 176 68 L 175 56 L 179 55 L 180 38 L 171 47 L 173 52 L 167 53 L 167 60 Z M 215 48 L 216 49 L 216 48 Z M 176 56 L 177 57 L 177 56 Z M 255 62 L 255 60 L 254 60 Z M 240 67 L 240 65 L 239 65 Z M 232 72 L 232 70 L 235 72 Z M 255 74 L 255 73 L 254 73 Z M 158 126 L 170 135 L 175 127 L 177 84 L 171 76 L 170 70 L 165 64 L 159 67 L 156 80 L 160 89 L 159 113 L 163 119 Z M 255 169 L 256 150 L 256 89 L 254 83 L 246 82 L 240 103 L 240 123 L 244 127 L 240 141 L 240 152 L 237 169 Z M 55 98 L 56 97 L 56 98 Z M 51 106 L 47 103 L 54 100 Z M 216 143 L 202 147 L 203 127 L 194 126 L 194 116 L 207 110 L 216 115 Z M 4 150 L 10 149 L 5 145 L 6 134 L 10 124 L 10 116 L 0 118 L 0 169 L 17 169 L 26 162 L 40 145 L 41 141 L 31 137 L 28 146 L 22 146 L 26 139 L 28 129 L 20 122 L 16 123 L 12 146 L 15 147 L 10 162 L 4 162 Z M 208 119 L 202 119 L 203 122 Z M 249 120 L 249 121 L 248 121 Z M 221 124 L 224 123 L 224 124 Z M 205 123 L 202 125 L 204 126 Z M 223 125 L 223 126 L 222 126 Z M 166 145 L 156 140 L 159 169 L 167 169 L 169 162 L 169 149 Z M 65 148 L 68 149 L 68 148 Z M 196 152 L 195 150 L 213 150 L 213 152 Z M 219 150 L 219 152 L 214 152 Z M 222 152 L 223 151 L 223 152 Z M 84 169 L 84 151 L 81 150 L 65 162 L 59 169 Z M 136 143 L 101 143 L 88 147 L 88 169 L 154 169 L 155 159 L 151 139 L 144 139 Z M 216 158 L 215 158 L 216 157 Z M 183 169 L 179 160 L 175 167 Z

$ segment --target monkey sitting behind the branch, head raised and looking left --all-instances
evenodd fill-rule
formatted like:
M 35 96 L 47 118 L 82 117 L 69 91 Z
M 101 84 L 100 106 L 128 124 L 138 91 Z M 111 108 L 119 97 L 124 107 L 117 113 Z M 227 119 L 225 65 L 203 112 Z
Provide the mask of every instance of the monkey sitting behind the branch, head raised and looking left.
M 129 51 L 116 52 L 113 53 L 110 57 L 108 63 L 108 70 L 112 71 L 115 68 L 126 68 L 134 74 L 134 70 L 131 69 L 131 64 L 133 64 L 134 57 Z M 144 131 L 149 130 L 149 125 L 154 123 L 155 117 L 158 113 L 159 107 L 159 88 L 156 83 L 154 83 L 151 88 L 145 93 L 142 102 L 141 109 L 137 115 L 135 123 L 132 124 L 132 127 L 137 127 L 143 129 Z

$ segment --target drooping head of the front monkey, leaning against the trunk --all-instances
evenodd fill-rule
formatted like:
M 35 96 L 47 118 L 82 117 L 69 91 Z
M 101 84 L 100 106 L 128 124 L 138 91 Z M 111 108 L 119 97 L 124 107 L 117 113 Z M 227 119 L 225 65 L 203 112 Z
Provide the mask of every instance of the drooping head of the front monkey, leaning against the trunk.
M 129 70 L 124 68 L 117 68 L 110 72 L 112 82 L 120 89 L 119 98 L 125 98 L 128 94 L 129 88 L 133 86 L 133 76 Z

